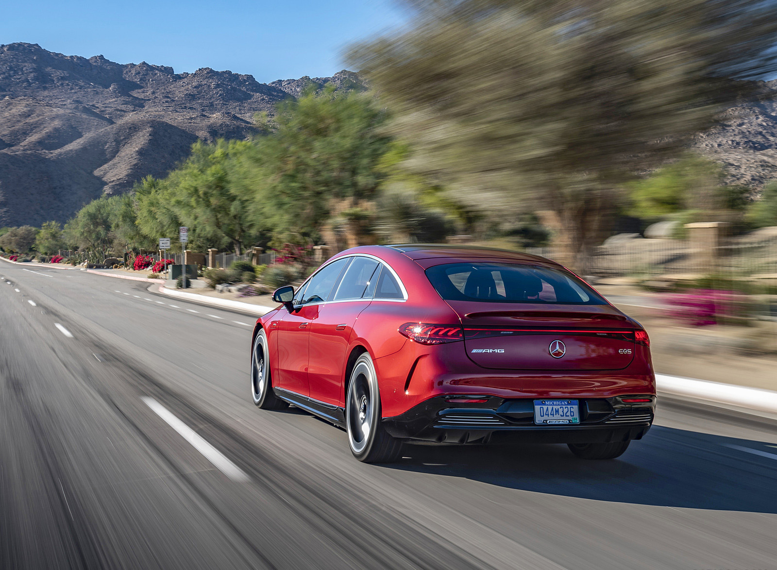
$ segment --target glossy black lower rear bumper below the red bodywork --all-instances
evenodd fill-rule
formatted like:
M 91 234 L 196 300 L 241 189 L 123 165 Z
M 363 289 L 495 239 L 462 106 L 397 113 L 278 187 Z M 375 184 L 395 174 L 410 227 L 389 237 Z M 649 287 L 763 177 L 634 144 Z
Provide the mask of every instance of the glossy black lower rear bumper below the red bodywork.
M 461 394 L 456 394 L 458 397 Z M 473 398 L 477 394 L 473 394 Z M 634 394 L 629 394 L 633 397 Z M 486 402 L 458 404 L 439 396 L 407 412 L 383 419 L 401 440 L 434 443 L 608 443 L 639 440 L 653 424 L 656 397 L 650 403 L 625 404 L 618 397 L 581 398 L 580 424 L 538 426 L 532 399 L 482 396 Z

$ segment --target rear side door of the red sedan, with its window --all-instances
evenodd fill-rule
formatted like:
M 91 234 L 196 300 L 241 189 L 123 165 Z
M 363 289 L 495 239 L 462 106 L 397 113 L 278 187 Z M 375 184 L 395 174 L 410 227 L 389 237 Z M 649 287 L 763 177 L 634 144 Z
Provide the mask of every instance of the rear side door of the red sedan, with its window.
M 379 265 L 370 257 L 354 257 L 312 322 L 308 382 L 315 400 L 343 405 L 347 349 L 356 319 L 370 304 L 371 298 L 364 298 L 364 293 Z

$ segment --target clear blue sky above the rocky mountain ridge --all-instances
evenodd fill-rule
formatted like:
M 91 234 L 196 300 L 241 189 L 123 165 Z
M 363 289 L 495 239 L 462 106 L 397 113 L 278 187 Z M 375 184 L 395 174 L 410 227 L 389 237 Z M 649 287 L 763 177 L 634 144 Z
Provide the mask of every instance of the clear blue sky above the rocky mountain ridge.
M 326 77 L 350 42 L 402 23 L 391 0 L 3 2 L 0 43 L 176 70 L 228 69 L 260 82 Z

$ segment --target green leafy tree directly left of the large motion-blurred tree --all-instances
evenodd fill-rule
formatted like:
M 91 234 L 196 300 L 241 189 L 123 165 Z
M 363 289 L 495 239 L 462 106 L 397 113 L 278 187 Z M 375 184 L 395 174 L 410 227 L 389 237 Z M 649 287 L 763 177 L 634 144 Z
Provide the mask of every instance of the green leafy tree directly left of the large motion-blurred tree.
M 374 96 L 332 86 L 280 103 L 266 134 L 231 165 L 256 228 L 315 239 L 333 200 L 373 200 L 390 140 L 384 122 Z

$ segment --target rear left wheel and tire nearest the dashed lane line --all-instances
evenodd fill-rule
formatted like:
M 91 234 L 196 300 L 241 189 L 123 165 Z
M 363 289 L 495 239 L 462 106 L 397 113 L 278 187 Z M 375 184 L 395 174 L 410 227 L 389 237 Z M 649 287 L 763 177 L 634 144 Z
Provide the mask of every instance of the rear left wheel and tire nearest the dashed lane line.
M 402 453 L 402 442 L 383 428 L 378 377 L 368 353 L 354 363 L 346 394 L 345 422 L 350 451 L 364 463 L 392 463 Z

